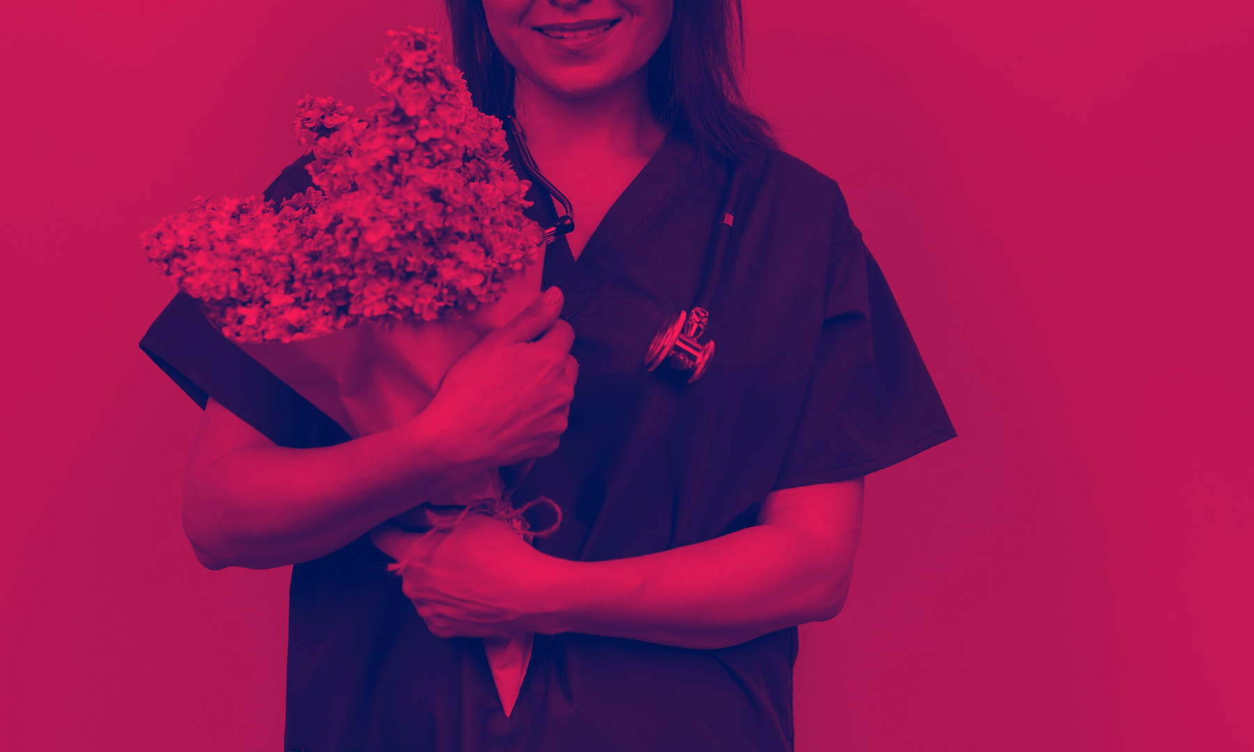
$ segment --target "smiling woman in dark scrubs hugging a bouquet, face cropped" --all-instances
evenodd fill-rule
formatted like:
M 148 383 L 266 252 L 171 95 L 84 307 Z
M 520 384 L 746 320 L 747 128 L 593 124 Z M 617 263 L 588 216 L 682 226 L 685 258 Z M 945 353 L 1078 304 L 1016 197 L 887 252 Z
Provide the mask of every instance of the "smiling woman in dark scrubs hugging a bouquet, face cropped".
M 352 441 L 177 297 L 142 346 L 206 407 L 188 538 L 209 568 L 296 564 L 288 749 L 790 749 L 796 625 L 845 600 L 863 476 L 954 436 L 892 293 L 836 184 L 740 104 L 739 0 L 448 9 L 475 103 L 574 206 L 561 295 Z M 687 384 L 643 353 L 692 306 L 735 163 L 717 355 Z M 515 499 L 564 513 L 534 548 L 482 515 L 421 545 L 385 524 L 534 456 Z M 466 638 L 509 630 L 538 634 L 507 717 Z

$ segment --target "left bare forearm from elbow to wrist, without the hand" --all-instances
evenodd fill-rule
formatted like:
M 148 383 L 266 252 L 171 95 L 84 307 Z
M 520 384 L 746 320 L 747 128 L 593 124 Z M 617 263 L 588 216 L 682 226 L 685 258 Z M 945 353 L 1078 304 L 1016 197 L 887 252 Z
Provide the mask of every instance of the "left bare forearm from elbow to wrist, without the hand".
M 243 446 L 189 466 L 183 524 L 207 567 L 282 567 L 335 551 L 477 470 L 443 456 L 429 430 Z

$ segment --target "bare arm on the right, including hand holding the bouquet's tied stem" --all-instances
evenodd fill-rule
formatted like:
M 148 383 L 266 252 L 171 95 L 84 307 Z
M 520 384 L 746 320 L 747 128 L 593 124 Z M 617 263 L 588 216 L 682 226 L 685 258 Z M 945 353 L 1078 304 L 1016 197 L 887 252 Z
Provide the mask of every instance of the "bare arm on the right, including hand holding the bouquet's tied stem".
M 375 541 L 393 558 L 409 556 L 405 592 L 440 637 L 525 629 L 712 649 L 835 617 L 849 592 L 861 501 L 860 478 L 785 489 L 767 496 L 757 525 L 609 561 L 547 556 L 482 516 L 434 546 L 414 549 L 416 538 L 393 528 Z

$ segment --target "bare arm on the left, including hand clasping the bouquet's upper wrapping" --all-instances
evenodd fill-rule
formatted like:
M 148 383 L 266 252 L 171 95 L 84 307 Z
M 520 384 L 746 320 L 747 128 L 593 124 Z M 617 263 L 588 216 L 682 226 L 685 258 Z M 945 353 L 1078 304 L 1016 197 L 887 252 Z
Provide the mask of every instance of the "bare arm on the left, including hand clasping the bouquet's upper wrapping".
M 578 370 L 561 308 L 561 297 L 537 302 L 454 363 L 413 420 L 336 446 L 276 446 L 209 400 L 183 493 L 197 559 L 211 569 L 316 559 L 478 471 L 552 452 Z

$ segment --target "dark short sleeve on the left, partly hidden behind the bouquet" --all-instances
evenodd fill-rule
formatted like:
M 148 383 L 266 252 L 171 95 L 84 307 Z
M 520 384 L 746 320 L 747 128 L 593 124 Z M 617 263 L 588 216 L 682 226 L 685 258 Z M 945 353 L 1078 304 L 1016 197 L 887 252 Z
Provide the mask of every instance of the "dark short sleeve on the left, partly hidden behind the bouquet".
M 311 185 L 308 160 L 302 157 L 287 167 L 266 189 L 266 199 L 282 201 Z M 213 397 L 280 446 L 329 446 L 349 439 L 339 424 L 223 336 L 187 293 L 174 296 L 139 347 L 202 409 Z

